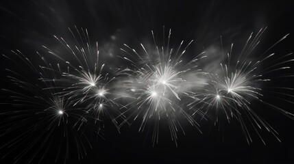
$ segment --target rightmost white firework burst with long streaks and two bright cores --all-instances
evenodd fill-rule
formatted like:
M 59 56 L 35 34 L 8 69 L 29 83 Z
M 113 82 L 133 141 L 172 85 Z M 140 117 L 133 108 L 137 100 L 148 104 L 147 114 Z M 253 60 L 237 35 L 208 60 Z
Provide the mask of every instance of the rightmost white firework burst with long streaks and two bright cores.
M 207 114 L 208 111 L 215 111 L 215 124 L 220 119 L 225 118 L 230 122 L 232 118 L 235 118 L 240 122 L 243 133 L 247 139 L 247 142 L 252 142 L 252 137 L 249 134 L 248 125 L 245 120 L 248 120 L 254 128 L 254 131 L 258 133 L 258 136 L 262 139 L 258 129 L 265 128 L 272 133 L 279 141 L 278 133 L 258 115 L 258 109 L 252 108 L 252 101 L 261 102 L 263 105 L 267 105 L 273 109 L 284 113 L 289 118 L 293 119 L 293 113 L 285 111 L 280 107 L 277 107 L 270 102 L 262 100 L 264 94 L 282 95 L 285 98 L 279 98 L 288 103 L 293 103 L 290 94 L 282 92 L 273 92 L 269 89 L 280 88 L 282 90 L 293 90 L 290 87 L 267 87 L 271 79 L 277 80 L 284 77 L 292 77 L 291 74 L 282 74 L 282 70 L 289 69 L 289 62 L 294 61 L 291 57 L 292 53 L 282 55 L 276 59 L 272 59 L 275 55 L 271 53 L 268 55 L 269 50 L 278 44 L 288 36 L 288 34 L 282 37 L 278 42 L 275 42 L 265 53 L 262 53 L 257 59 L 249 60 L 250 55 L 254 52 L 254 49 L 259 43 L 259 38 L 265 29 L 260 29 L 255 37 L 252 34 L 249 36 L 243 50 L 237 56 L 232 54 L 233 44 L 230 49 L 230 53 L 223 55 L 224 64 L 221 63 L 218 73 L 210 72 L 208 75 L 210 81 L 203 91 L 203 94 L 195 94 L 193 97 L 199 99 L 189 104 L 192 107 L 198 107 L 196 113 L 201 110 L 202 113 Z M 253 38 L 253 39 L 252 39 Z M 280 75 L 277 77 L 273 72 L 280 71 Z M 201 97 L 201 98 L 200 98 Z M 219 114 L 222 113 L 222 114 Z M 223 116 L 224 115 L 224 116 Z

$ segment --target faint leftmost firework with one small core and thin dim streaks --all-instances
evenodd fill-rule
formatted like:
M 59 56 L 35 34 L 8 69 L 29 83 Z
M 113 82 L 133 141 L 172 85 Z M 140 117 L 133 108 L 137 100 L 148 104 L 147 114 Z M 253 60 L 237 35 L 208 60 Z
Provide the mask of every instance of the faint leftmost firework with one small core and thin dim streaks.
M 20 69 L 6 69 L 13 87 L 3 91 L 10 95 L 13 107 L 1 113 L 5 116 L 1 120 L 1 137 L 14 137 L 1 146 L 7 150 L 3 158 L 18 154 L 13 156 L 15 163 L 23 160 L 40 163 L 47 152 L 56 152 L 55 161 L 65 163 L 76 148 L 78 159 L 82 159 L 91 145 L 84 129 L 77 126 L 77 122 L 85 121 L 80 119 L 81 109 L 58 94 L 56 83 L 42 81 L 56 74 L 44 57 L 41 56 L 42 61 L 51 68 L 49 71 L 34 65 L 20 51 L 12 54 L 3 56 Z

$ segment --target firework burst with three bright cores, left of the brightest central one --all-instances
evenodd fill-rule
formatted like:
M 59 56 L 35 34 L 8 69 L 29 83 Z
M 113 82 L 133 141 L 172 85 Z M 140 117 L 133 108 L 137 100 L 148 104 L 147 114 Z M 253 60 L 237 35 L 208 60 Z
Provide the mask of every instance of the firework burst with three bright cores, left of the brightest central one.
M 93 49 L 87 29 L 78 30 L 75 27 L 75 33 L 71 29 L 69 31 L 76 45 L 66 42 L 64 38 L 54 36 L 68 53 L 58 54 L 43 46 L 50 54 L 67 65 L 66 71 L 60 70 L 62 76 L 59 79 L 53 79 L 64 87 L 59 94 L 74 102 L 73 106 L 78 105 L 85 109 L 83 119 L 94 119 L 95 124 L 99 123 L 99 127 L 102 128 L 104 120 L 110 118 L 119 130 L 117 119 L 123 118 L 124 115 L 119 113 L 117 109 L 120 105 L 114 101 L 118 95 L 110 83 L 115 77 L 109 78 L 108 73 L 103 74 L 105 64 L 99 63 L 98 43 L 96 42 Z M 73 58 L 73 61 L 66 61 L 64 59 L 66 57 Z M 121 117 L 115 118 L 114 115 L 121 115 Z

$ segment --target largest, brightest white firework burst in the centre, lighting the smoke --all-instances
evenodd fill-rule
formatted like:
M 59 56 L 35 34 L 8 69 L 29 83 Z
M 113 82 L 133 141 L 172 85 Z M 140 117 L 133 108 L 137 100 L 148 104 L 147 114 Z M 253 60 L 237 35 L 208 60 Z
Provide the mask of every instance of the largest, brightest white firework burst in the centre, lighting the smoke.
M 144 131 L 148 122 L 154 122 L 152 141 L 157 143 L 160 124 L 166 121 L 171 139 L 177 144 L 177 132 L 182 129 L 184 133 L 180 124 L 183 119 L 199 130 L 199 125 L 186 112 L 186 107 L 182 107 L 181 99 L 189 94 L 187 85 L 193 84 L 191 81 L 186 81 L 188 75 L 203 73 L 197 68 L 197 61 L 206 56 L 203 52 L 184 63 L 182 55 L 193 40 L 184 48 L 182 41 L 177 49 L 169 49 L 171 38 L 171 30 L 169 30 L 167 45 L 163 44 L 162 48 L 158 48 L 154 32 L 151 33 L 154 40 L 153 49 L 146 49 L 143 44 L 140 44 L 143 53 L 137 53 L 127 44 L 124 44 L 126 50 L 121 49 L 129 55 L 121 58 L 132 65 L 132 68 L 122 69 L 118 73 L 122 76 L 121 83 L 125 92 L 132 97 L 132 102 L 125 106 L 126 112 L 131 112 L 125 122 L 141 118 L 139 131 Z M 201 85 L 201 82 L 198 83 Z

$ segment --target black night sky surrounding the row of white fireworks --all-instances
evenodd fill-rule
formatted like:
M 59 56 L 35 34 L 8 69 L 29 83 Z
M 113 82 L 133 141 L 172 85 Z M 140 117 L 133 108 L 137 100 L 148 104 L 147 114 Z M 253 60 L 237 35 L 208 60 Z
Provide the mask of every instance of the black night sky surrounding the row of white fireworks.
M 19 49 L 26 55 L 42 52 L 41 45 L 58 44 L 53 35 L 66 37 L 67 28 L 77 25 L 88 29 L 102 51 L 114 54 L 103 60 L 115 66 L 119 63 L 115 55 L 121 53 L 123 43 L 137 48 L 140 42 L 151 39 L 151 29 L 161 37 L 164 25 L 166 33 L 172 30 L 175 45 L 195 40 L 188 49 L 191 55 L 219 44 L 220 36 L 226 47 L 231 42 L 243 45 L 252 31 L 256 33 L 262 27 L 268 27 L 258 48 L 263 51 L 291 33 L 273 49 L 286 54 L 293 51 L 294 45 L 293 7 L 291 1 L 1 1 L 0 51 L 6 54 Z M 9 65 L 1 59 L 1 72 Z M 293 87 L 292 82 L 281 83 Z M 278 131 L 282 143 L 262 131 L 267 145 L 254 132 L 254 141 L 248 145 L 236 122 L 226 124 L 221 132 L 210 122 L 201 125 L 208 129 L 204 135 L 188 127 L 186 135 L 180 134 L 177 148 L 169 134 L 160 136 L 160 142 L 152 147 L 151 139 L 145 141 L 146 133 L 138 133 L 136 125 L 123 126 L 121 134 L 106 125 L 106 141 L 93 136 L 93 150 L 88 150 L 86 159 L 77 161 L 70 156 L 69 163 L 293 163 L 293 120 L 266 106 L 254 107 Z M 49 161 L 52 154 L 49 152 L 43 162 Z M 1 163 L 12 163 L 12 159 Z

